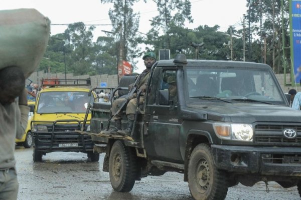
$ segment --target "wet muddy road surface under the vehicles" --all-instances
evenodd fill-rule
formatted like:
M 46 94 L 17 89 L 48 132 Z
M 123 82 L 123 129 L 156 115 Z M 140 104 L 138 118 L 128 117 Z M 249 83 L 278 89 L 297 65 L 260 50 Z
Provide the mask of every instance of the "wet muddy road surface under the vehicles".
M 88 162 L 85 153 L 52 152 L 43 155 L 42 162 L 33 162 L 32 148 L 17 146 L 18 200 L 192 200 L 183 174 L 168 172 L 162 176 L 147 176 L 136 181 L 129 193 L 113 191 L 108 172 L 102 171 L 104 154 L 99 162 Z M 301 199 L 296 187 L 282 188 L 269 182 L 253 187 L 241 184 L 230 187 L 226 200 L 294 200 Z

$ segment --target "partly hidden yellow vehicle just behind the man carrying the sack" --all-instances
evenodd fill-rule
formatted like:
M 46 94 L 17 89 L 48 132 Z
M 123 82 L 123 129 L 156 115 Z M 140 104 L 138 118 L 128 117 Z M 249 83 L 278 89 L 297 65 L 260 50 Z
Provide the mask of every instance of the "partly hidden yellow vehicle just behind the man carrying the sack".
M 21 139 L 16 139 L 17 145 L 23 145 L 25 148 L 30 148 L 34 144 L 33 134 L 31 132 L 31 120 L 34 116 L 34 108 L 35 108 L 35 101 L 28 101 L 28 106 L 30 107 L 30 111 L 28 113 L 28 123 L 25 130 L 25 133 Z

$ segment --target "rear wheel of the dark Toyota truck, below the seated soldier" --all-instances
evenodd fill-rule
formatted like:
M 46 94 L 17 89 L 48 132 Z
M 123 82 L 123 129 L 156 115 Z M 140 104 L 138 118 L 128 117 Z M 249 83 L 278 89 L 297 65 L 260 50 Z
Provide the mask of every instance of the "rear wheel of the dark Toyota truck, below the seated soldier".
M 136 159 L 130 147 L 117 140 L 109 156 L 109 175 L 115 191 L 128 192 L 135 183 Z

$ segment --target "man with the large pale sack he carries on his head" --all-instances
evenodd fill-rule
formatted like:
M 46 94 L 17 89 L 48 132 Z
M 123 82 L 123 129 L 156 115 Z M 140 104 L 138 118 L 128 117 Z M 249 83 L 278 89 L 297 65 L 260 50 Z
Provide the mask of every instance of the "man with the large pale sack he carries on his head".
M 0 199 L 16 200 L 15 139 L 28 122 L 25 80 L 45 53 L 50 21 L 35 9 L 0 10 Z

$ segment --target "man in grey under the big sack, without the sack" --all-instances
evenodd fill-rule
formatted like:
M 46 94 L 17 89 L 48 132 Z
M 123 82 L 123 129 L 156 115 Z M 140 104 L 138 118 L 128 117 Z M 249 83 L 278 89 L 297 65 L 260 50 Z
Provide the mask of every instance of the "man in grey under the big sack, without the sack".
M 16 200 L 19 183 L 14 156 L 15 139 L 21 139 L 28 121 L 27 90 L 21 68 L 0 70 L 0 199 Z

